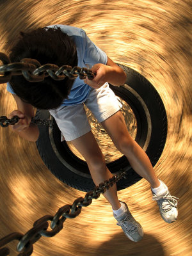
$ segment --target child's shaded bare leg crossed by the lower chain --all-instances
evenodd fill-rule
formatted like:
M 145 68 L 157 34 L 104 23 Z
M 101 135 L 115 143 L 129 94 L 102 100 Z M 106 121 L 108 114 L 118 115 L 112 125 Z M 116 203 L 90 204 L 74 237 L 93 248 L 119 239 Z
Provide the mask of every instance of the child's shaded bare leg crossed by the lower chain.
M 104 156 L 92 132 L 88 132 L 76 140 L 72 140 L 71 142 L 86 160 L 93 182 L 96 186 L 98 186 L 101 182 L 104 182 L 104 180 L 108 180 L 113 177 L 106 166 Z M 103 195 L 114 210 L 121 207 L 117 197 L 116 184 L 109 188 Z

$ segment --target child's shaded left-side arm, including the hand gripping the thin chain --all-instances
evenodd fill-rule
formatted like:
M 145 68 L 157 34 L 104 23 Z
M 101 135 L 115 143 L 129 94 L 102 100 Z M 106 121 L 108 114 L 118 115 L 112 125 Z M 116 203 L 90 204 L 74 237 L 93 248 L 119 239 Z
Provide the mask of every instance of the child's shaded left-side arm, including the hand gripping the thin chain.
M 39 136 L 38 127 L 35 124 L 30 124 L 31 118 L 35 116 L 34 108 L 31 104 L 23 102 L 17 95 L 12 94 L 16 103 L 18 110 L 12 111 L 8 118 L 13 116 L 19 116 L 19 122 L 12 126 L 13 131 L 17 132 L 21 138 L 29 141 L 36 141 Z

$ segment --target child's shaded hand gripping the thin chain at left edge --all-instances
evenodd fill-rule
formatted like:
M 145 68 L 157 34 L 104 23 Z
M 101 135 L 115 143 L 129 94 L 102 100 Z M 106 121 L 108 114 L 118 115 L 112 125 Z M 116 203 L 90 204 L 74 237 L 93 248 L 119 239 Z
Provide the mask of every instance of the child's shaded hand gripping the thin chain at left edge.
M 31 123 L 30 116 L 25 115 L 24 113 L 22 113 L 19 110 L 12 111 L 12 113 L 10 113 L 10 115 L 8 115 L 8 118 L 11 119 L 13 116 L 19 116 L 19 118 L 20 118 L 16 124 L 11 125 L 12 129 L 14 131 L 22 132 L 22 131 L 25 131 L 26 129 L 28 129 L 28 127 Z

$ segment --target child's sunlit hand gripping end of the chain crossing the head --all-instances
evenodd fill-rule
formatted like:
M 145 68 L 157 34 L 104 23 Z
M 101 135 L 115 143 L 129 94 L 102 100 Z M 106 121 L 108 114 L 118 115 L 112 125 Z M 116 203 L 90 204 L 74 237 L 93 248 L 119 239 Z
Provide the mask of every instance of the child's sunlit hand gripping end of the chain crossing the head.
M 95 89 L 100 88 L 100 86 L 108 81 L 109 68 L 111 67 L 101 63 L 95 64 L 91 70 L 92 72 L 96 72 L 97 75 L 93 80 L 89 80 L 88 77 L 86 77 L 86 79 L 84 79 L 84 83 L 92 86 Z

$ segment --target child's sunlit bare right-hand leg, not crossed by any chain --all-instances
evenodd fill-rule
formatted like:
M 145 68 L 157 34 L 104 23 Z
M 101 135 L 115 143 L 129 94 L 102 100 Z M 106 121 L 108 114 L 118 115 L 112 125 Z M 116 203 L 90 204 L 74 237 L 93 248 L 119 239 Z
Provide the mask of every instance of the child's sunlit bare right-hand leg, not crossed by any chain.
M 102 126 L 108 132 L 116 148 L 127 157 L 135 172 L 145 178 L 152 188 L 160 186 L 160 182 L 156 177 L 147 154 L 140 145 L 131 138 L 127 131 L 124 116 L 121 111 L 116 112 L 103 121 Z

